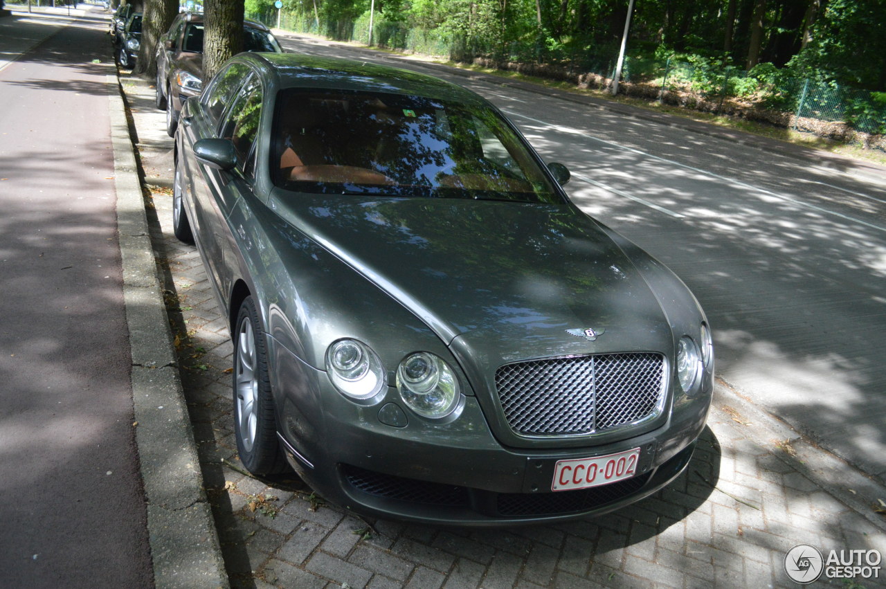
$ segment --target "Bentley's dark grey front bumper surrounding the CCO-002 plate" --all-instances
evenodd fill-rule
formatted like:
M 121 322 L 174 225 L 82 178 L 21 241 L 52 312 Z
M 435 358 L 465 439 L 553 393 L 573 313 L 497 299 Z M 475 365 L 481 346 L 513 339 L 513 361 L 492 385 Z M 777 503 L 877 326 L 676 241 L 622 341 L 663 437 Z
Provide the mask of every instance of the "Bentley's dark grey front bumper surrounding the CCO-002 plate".
M 325 372 L 273 340 L 269 347 L 277 430 L 292 467 L 324 498 L 355 513 L 414 522 L 501 526 L 624 507 L 680 475 L 710 407 L 709 396 L 683 404 L 657 430 L 605 445 L 509 448 L 494 438 L 474 397 L 446 424 L 410 414 L 393 388 L 380 403 L 361 406 L 338 393 Z M 389 404 L 400 408 L 405 424 L 390 418 L 396 410 Z M 551 491 L 557 461 L 637 447 L 634 477 Z

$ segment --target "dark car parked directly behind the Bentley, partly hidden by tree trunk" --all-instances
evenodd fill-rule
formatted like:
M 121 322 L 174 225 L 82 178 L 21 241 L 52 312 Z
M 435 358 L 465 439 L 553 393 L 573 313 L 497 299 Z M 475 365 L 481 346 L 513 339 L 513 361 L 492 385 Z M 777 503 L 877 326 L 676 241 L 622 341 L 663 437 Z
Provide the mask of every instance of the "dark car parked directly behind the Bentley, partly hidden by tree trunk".
M 243 50 L 283 53 L 268 27 L 243 23 Z M 157 108 L 166 109 L 167 133 L 175 136 L 185 98 L 203 89 L 203 14 L 182 12 L 157 43 Z

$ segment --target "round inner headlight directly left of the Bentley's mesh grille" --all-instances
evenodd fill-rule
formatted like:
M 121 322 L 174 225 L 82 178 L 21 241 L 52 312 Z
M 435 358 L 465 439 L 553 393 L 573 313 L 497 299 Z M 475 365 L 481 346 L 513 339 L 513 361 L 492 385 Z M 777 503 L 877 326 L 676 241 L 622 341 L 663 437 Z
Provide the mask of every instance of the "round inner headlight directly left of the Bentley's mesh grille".
M 418 415 L 445 417 L 458 406 L 458 379 L 445 360 L 432 353 L 409 354 L 397 368 L 397 390 Z

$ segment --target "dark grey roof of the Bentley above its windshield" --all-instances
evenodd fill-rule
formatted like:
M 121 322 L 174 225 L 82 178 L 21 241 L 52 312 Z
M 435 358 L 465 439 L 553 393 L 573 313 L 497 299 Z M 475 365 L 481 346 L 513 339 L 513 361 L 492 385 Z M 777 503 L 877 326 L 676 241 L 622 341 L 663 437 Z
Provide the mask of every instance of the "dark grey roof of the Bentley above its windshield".
M 365 61 L 299 53 L 247 53 L 240 58 L 260 62 L 261 69 L 275 72 L 280 89 L 369 90 L 488 105 L 483 97 L 448 81 Z

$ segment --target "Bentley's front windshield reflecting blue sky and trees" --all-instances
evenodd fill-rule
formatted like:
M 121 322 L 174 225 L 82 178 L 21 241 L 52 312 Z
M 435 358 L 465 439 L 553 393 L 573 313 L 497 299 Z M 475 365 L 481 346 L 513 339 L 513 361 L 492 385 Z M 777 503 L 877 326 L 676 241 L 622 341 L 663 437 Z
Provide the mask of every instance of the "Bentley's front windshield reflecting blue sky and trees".
M 492 108 L 345 90 L 283 90 L 271 169 L 285 190 L 562 203 Z

